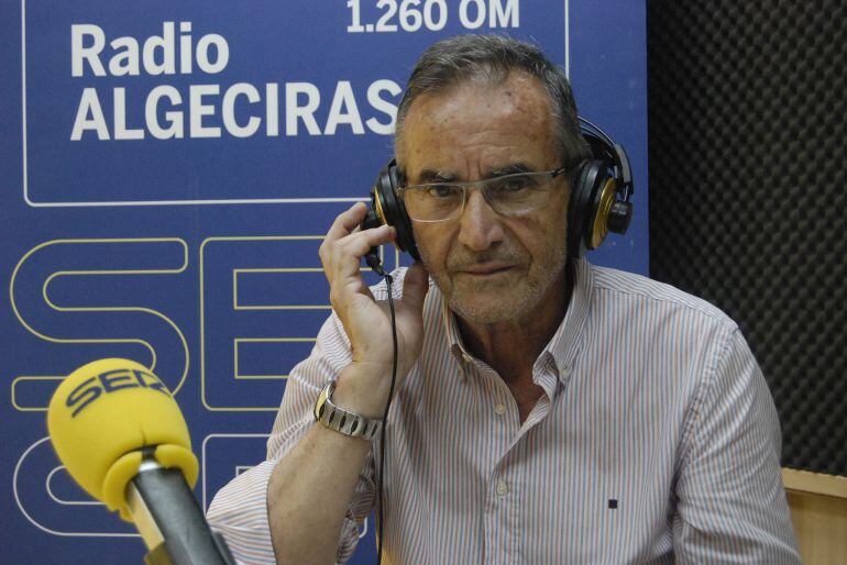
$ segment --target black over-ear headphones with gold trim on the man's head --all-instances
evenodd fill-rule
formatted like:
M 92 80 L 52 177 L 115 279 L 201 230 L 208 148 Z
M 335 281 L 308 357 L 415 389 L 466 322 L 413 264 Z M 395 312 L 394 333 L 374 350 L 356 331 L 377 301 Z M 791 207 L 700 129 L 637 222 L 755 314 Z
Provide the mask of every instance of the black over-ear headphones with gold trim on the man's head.
M 629 199 L 635 190 L 624 147 L 590 121 L 579 120 L 580 133 L 591 147 L 592 158 L 580 163 L 571 175 L 568 253 L 572 257 L 582 257 L 586 251 L 600 247 L 609 231 L 626 233 L 632 218 Z M 397 230 L 397 247 L 419 261 L 411 220 L 403 200 L 397 198 L 396 189 L 400 186 L 397 162 L 392 159 L 380 171 L 371 189 L 371 208 L 362 229 L 393 225 Z M 369 264 L 376 258 L 375 251 L 372 250 L 370 255 Z

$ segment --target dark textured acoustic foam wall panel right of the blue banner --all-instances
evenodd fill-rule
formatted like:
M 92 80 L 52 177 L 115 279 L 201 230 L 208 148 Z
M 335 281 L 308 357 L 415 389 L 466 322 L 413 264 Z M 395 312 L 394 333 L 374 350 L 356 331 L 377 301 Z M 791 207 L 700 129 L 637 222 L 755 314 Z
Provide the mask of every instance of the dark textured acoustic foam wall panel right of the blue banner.
M 783 465 L 847 475 L 847 3 L 648 1 L 651 275 L 737 320 Z

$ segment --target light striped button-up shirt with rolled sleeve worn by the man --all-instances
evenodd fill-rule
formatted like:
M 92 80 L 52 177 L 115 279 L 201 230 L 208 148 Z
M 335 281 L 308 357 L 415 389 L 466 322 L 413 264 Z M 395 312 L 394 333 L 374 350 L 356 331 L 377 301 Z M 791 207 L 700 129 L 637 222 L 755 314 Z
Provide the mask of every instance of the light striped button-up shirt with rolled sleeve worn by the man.
M 374 295 L 385 299 L 385 286 Z M 424 351 L 388 419 L 385 563 L 800 563 L 773 401 L 718 309 L 575 262 L 565 317 L 532 368 L 544 394 L 522 424 L 505 383 L 462 346 L 435 286 L 424 315 Z M 213 500 L 212 528 L 241 562 L 274 562 L 268 477 L 350 358 L 332 315 L 288 378 L 267 461 Z M 371 456 L 339 563 L 374 500 Z

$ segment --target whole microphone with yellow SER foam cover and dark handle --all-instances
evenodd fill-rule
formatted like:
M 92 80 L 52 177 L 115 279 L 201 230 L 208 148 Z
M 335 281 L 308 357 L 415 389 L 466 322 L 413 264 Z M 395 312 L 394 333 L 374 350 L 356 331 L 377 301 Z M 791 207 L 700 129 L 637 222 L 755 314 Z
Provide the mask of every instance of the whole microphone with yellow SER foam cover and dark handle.
M 183 413 L 144 365 L 109 358 L 79 367 L 53 394 L 47 429 L 74 480 L 135 523 L 147 563 L 234 564 L 191 494 L 198 464 Z

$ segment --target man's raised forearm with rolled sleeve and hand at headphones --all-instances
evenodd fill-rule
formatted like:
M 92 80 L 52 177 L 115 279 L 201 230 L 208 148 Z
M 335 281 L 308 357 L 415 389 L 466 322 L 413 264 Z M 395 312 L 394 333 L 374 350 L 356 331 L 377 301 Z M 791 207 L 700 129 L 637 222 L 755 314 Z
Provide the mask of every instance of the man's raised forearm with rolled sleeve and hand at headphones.
M 331 430 L 311 417 L 320 388 L 331 379 L 337 380 L 332 402 L 366 418 L 382 419 L 388 398 L 394 354 L 391 317 L 387 304 L 374 300 L 360 264 L 372 246 L 391 242 L 394 230 L 359 231 L 364 214 L 361 203 L 340 214 L 320 247 L 338 321 L 324 325 L 312 355 L 289 377 L 268 444 L 268 462 L 251 472 L 252 477 L 233 481 L 240 485 L 226 487 L 210 509 L 210 521 L 233 539 L 237 555 L 255 551 L 267 558 L 272 541 L 279 564 L 343 561 L 358 533 L 351 518 L 364 517 L 373 502 L 373 496 L 363 492 L 373 490 L 365 465 L 371 442 Z M 420 354 L 427 289 L 427 274 L 416 264 L 405 273 L 403 298 L 395 301 L 398 385 Z M 290 436 L 299 437 L 294 445 Z M 266 491 L 261 492 L 265 485 Z M 261 516 L 264 509 L 255 508 L 261 495 L 266 496 L 266 521 Z M 239 507 L 250 506 L 251 500 L 254 508 Z M 248 520 L 251 512 L 260 516 Z M 251 525 L 243 527 L 242 521 Z M 271 540 L 263 539 L 268 534 Z

